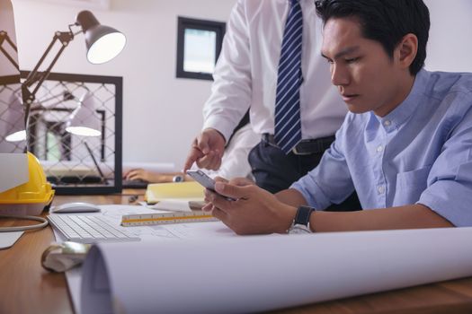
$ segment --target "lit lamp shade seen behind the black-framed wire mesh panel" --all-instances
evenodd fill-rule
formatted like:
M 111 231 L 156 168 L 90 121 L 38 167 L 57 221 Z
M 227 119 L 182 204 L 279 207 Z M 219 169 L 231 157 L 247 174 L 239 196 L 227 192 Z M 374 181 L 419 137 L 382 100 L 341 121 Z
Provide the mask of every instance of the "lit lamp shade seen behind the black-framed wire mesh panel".
M 74 135 L 100 136 L 100 118 L 96 112 L 94 96 L 91 92 L 79 100 L 79 106 L 72 111 L 66 123 L 66 131 Z

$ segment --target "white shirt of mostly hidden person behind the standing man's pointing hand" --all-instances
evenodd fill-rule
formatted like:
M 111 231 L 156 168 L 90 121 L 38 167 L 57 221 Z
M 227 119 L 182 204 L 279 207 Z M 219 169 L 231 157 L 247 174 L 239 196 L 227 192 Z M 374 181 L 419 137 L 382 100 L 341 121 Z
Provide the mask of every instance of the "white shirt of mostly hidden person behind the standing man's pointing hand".
M 225 148 L 218 171 L 205 171 L 211 178 L 219 176 L 225 179 L 236 177 L 253 179 L 247 156 L 259 141 L 261 136 L 254 133 L 250 124 L 241 127 Z

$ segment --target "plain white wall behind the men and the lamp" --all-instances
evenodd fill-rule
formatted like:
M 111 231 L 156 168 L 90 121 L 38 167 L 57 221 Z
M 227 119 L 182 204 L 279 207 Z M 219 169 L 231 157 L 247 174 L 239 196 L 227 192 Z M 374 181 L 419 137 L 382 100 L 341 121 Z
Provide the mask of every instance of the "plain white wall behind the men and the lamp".
M 210 82 L 175 78 L 176 16 L 226 21 L 235 1 L 112 0 L 110 11 L 94 12 L 127 35 L 123 53 L 109 64 L 89 65 L 78 35 L 59 59 L 55 72 L 124 77 L 124 161 L 174 161 L 182 167 L 200 130 Z M 425 3 L 432 17 L 426 67 L 472 72 L 472 1 Z M 35 65 L 53 32 L 66 31 L 81 9 L 28 0 L 14 0 L 14 6 L 22 69 Z

